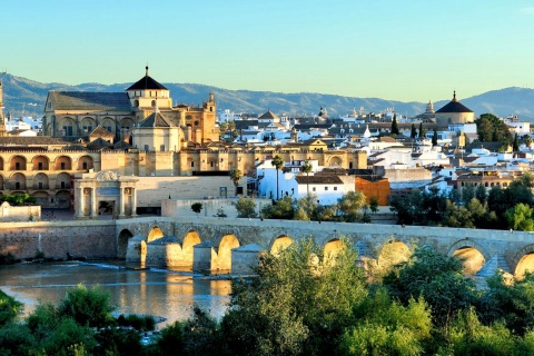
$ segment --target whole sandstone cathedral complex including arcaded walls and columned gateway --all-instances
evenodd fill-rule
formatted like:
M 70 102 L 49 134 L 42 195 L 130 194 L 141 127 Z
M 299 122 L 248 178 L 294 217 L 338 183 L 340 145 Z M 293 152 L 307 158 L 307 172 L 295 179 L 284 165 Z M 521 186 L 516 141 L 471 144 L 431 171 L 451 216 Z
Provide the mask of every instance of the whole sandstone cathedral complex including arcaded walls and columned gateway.
M 0 82 L 0 192 L 29 194 L 43 208 L 95 218 L 102 202 L 118 218 L 154 209 L 165 199 L 226 197 L 231 169 L 254 180 L 259 162 L 317 160 L 367 168 L 365 151 L 312 145 L 254 147 L 219 141 L 212 93 L 199 107 L 172 105 L 169 90 L 145 76 L 125 92 L 50 91 L 43 136 L 7 136 Z

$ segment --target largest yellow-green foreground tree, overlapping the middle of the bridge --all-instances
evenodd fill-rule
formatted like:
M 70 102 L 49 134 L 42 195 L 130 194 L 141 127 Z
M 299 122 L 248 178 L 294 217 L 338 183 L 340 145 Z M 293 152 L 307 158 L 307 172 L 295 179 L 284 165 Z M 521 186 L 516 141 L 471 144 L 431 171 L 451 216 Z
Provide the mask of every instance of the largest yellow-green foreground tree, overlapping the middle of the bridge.
M 352 248 L 325 256 L 305 239 L 265 254 L 253 280 L 234 280 L 221 322 L 229 354 L 328 355 L 366 297 Z

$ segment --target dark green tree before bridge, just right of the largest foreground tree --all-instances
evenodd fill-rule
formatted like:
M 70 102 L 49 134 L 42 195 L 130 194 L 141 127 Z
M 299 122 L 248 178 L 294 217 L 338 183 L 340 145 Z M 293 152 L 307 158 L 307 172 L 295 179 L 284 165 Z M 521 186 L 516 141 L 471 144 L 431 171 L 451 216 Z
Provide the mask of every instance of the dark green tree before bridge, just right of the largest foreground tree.
M 448 324 L 457 312 L 468 309 L 476 297 L 475 285 L 464 277 L 461 260 L 427 247 L 416 248 L 383 283 L 392 297 L 405 306 L 412 298 L 423 297 L 437 326 Z

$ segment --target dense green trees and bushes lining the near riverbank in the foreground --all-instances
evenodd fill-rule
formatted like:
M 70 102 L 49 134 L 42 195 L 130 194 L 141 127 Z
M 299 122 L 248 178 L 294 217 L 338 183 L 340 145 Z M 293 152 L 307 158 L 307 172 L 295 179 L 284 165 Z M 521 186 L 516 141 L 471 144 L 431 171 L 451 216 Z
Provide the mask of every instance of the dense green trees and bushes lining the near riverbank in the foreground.
M 461 260 L 425 247 L 377 279 L 355 264 L 348 241 L 336 243 L 334 251 L 303 239 L 261 255 L 257 277 L 233 281 L 220 320 L 195 307 L 148 345 L 141 334 L 154 324 L 115 320 L 98 287 L 78 286 L 24 320 L 16 318 L 20 303 L 0 293 L 0 355 L 533 354 L 532 275 L 498 274 L 475 289 Z

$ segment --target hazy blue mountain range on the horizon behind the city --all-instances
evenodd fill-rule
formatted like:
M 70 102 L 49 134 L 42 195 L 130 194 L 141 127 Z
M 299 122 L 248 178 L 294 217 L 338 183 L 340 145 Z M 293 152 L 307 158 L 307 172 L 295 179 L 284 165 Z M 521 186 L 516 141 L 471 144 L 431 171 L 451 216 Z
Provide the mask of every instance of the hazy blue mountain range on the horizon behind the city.
M 3 82 L 4 115 L 10 112 L 13 117 L 32 116 L 41 117 L 44 110 L 44 101 L 49 90 L 68 91 L 123 91 L 131 83 L 100 85 L 82 83 L 68 86 L 63 83 L 41 83 L 9 73 L 0 73 Z M 408 117 L 422 113 L 426 109 L 426 102 L 403 102 L 379 98 L 355 98 L 325 93 L 298 92 L 281 93 L 271 91 L 228 90 L 205 85 L 195 83 L 169 83 L 164 82 L 170 90 L 175 103 L 199 105 L 208 99 L 208 93 L 215 93 L 217 111 L 229 109 L 235 112 L 263 113 L 271 110 L 275 113 L 288 112 L 290 116 L 313 116 L 324 107 L 330 117 L 338 117 L 359 111 L 380 112 L 387 108 Z M 452 98 L 452 92 L 451 92 Z M 434 102 L 434 109 L 438 110 L 449 99 Z M 534 121 L 534 89 L 505 88 L 487 91 L 485 93 L 461 98 L 459 101 L 475 111 L 475 115 L 492 112 L 501 117 L 518 115 L 521 119 Z

